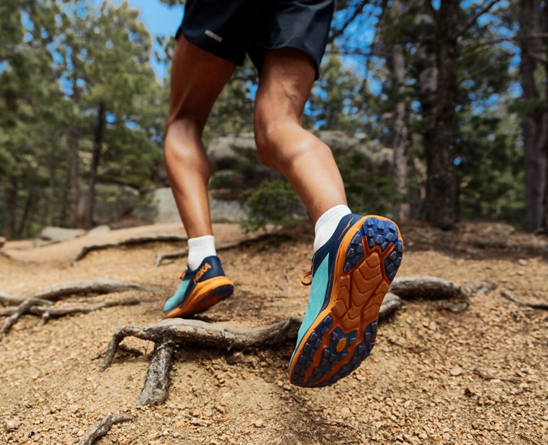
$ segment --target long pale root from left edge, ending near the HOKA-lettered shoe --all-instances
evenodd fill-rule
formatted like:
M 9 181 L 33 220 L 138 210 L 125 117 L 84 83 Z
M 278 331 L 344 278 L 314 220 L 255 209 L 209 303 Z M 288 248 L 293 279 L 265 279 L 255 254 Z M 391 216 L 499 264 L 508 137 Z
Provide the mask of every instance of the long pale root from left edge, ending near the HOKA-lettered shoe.
M 154 289 L 138 285 L 135 282 L 123 282 L 114 280 L 86 280 L 86 281 L 71 281 L 62 285 L 53 286 L 43 291 L 34 292 L 28 296 L 21 294 L 8 296 L 0 294 L 0 304 L 4 306 L 14 306 L 21 304 L 28 298 L 56 301 L 62 297 L 71 295 L 88 295 L 90 293 L 114 293 L 125 292 L 130 290 L 153 292 Z

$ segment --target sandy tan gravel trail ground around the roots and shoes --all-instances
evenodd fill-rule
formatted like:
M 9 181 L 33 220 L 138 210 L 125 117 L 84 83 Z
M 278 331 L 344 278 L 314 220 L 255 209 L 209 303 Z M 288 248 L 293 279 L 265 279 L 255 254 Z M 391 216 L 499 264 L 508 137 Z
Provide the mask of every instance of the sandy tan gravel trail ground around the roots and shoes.
M 450 233 L 407 224 L 401 231 L 406 254 L 399 276 L 432 275 L 458 284 L 490 280 L 499 289 L 471 297 L 462 313 L 432 301 L 406 302 L 381 324 L 369 359 L 321 389 L 288 384 L 290 343 L 245 354 L 182 347 L 169 398 L 160 407 L 136 406 L 151 344 L 125 340 L 129 349 L 103 373 L 101 353 L 116 327 L 160 320 L 184 260 L 154 267 L 154 258 L 185 243 L 102 250 L 77 267 L 70 263 L 90 242 L 184 234 L 182 227 L 116 230 L 39 249 L 7 243 L 0 251 L 9 256 L 0 255 L 3 293 L 95 278 L 156 291 L 75 296 L 58 304 L 122 296 L 144 301 L 49 320 L 40 328 L 39 317 L 25 315 L 0 342 L 0 443 L 77 444 L 104 416 L 129 413 L 134 420 L 113 426 L 98 443 L 548 444 L 548 313 L 500 294 L 503 287 L 521 300 L 548 302 L 546 239 L 501 224 L 462 224 Z M 231 225 L 214 232 L 221 245 L 249 236 Z M 310 232 L 304 224 L 221 252 L 236 293 L 201 318 L 259 326 L 303 315 L 308 288 L 299 280 L 310 268 Z M 479 248 L 478 241 L 492 247 Z

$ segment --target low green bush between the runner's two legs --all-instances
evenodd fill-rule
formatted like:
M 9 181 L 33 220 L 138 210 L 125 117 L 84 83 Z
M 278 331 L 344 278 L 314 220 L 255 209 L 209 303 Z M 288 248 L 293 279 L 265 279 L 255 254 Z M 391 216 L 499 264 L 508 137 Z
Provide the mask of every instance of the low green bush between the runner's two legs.
M 291 185 L 281 180 L 264 180 L 256 191 L 245 192 L 243 196 L 249 208 L 247 219 L 242 221 L 242 228 L 246 231 L 266 231 L 268 224 L 290 227 L 302 205 Z

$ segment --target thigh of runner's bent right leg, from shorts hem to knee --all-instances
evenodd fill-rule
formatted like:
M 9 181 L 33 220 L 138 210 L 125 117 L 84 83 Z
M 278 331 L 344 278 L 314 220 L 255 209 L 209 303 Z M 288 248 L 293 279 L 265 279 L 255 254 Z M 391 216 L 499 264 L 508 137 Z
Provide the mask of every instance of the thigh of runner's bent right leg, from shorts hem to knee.
M 302 124 L 304 106 L 315 75 L 314 61 L 300 49 L 264 51 L 255 101 L 255 119 L 259 130 L 279 120 Z

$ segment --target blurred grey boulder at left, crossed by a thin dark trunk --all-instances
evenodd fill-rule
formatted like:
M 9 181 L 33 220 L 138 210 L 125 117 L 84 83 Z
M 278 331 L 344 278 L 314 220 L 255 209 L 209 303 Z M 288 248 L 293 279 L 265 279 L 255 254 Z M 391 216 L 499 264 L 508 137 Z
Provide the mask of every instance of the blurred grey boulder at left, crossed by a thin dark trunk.
M 79 197 L 78 217 L 84 219 L 88 190 L 84 189 Z M 95 186 L 95 203 L 93 206 L 93 222 L 108 224 L 121 219 L 130 213 L 139 201 L 137 189 L 119 184 L 97 184 Z

